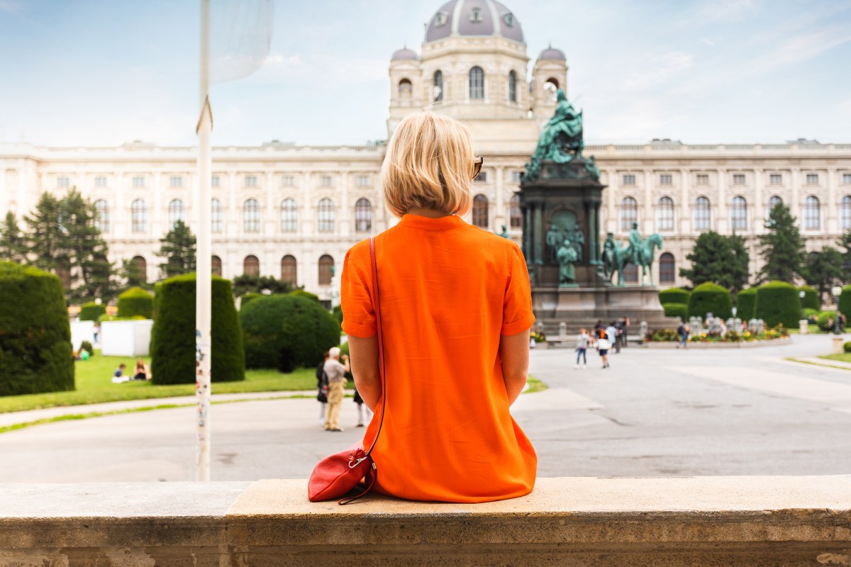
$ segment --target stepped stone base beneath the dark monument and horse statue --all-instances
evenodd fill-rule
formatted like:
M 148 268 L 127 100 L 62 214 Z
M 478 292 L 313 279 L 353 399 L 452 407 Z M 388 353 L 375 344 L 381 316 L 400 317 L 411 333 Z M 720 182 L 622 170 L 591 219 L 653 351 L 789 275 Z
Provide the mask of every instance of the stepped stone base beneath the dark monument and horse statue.
M 532 309 L 535 322 L 544 326 L 547 336 L 559 334 L 559 323 L 567 324 L 568 335 L 589 329 L 602 320 L 604 325 L 622 318 L 630 320 L 630 334 L 639 332 L 642 321 L 648 331 L 677 329 L 680 320 L 666 317 L 659 303 L 659 290 L 653 286 L 533 287 Z

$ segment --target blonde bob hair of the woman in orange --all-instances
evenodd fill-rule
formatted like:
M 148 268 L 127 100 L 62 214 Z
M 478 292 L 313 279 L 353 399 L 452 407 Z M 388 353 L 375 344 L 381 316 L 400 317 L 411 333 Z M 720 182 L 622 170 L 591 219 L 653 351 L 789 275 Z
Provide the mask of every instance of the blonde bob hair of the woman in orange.
M 417 207 L 469 213 L 474 158 L 470 131 L 457 120 L 432 111 L 405 116 L 381 166 L 387 208 L 397 217 Z

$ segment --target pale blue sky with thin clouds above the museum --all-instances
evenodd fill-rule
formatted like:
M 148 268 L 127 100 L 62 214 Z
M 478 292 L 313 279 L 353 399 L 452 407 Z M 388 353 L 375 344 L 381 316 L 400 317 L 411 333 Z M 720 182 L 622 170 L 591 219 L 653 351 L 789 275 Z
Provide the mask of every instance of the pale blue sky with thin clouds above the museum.
M 391 54 L 443 0 L 275 0 L 214 145 L 386 139 Z M 505 0 L 568 59 L 585 142 L 851 142 L 851 0 Z M 0 0 L 0 142 L 195 145 L 198 0 Z

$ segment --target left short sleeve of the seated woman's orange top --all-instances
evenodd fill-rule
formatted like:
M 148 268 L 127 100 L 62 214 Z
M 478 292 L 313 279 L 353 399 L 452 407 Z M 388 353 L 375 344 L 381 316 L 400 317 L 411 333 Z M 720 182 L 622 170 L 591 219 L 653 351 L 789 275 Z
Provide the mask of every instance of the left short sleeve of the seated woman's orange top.
M 340 308 L 343 309 L 343 332 L 352 337 L 367 338 L 375 334 L 375 310 L 372 304 L 372 267 L 368 253 L 362 252 L 362 244 L 346 252 L 340 276 Z

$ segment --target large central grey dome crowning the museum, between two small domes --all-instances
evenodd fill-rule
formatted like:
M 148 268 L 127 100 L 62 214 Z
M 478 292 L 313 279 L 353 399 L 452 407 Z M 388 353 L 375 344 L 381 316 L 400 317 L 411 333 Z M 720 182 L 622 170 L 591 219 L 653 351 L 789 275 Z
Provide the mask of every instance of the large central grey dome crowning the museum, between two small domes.
M 495 0 L 450 0 L 431 16 L 426 43 L 446 37 L 501 36 L 523 43 L 523 29 L 510 9 Z

